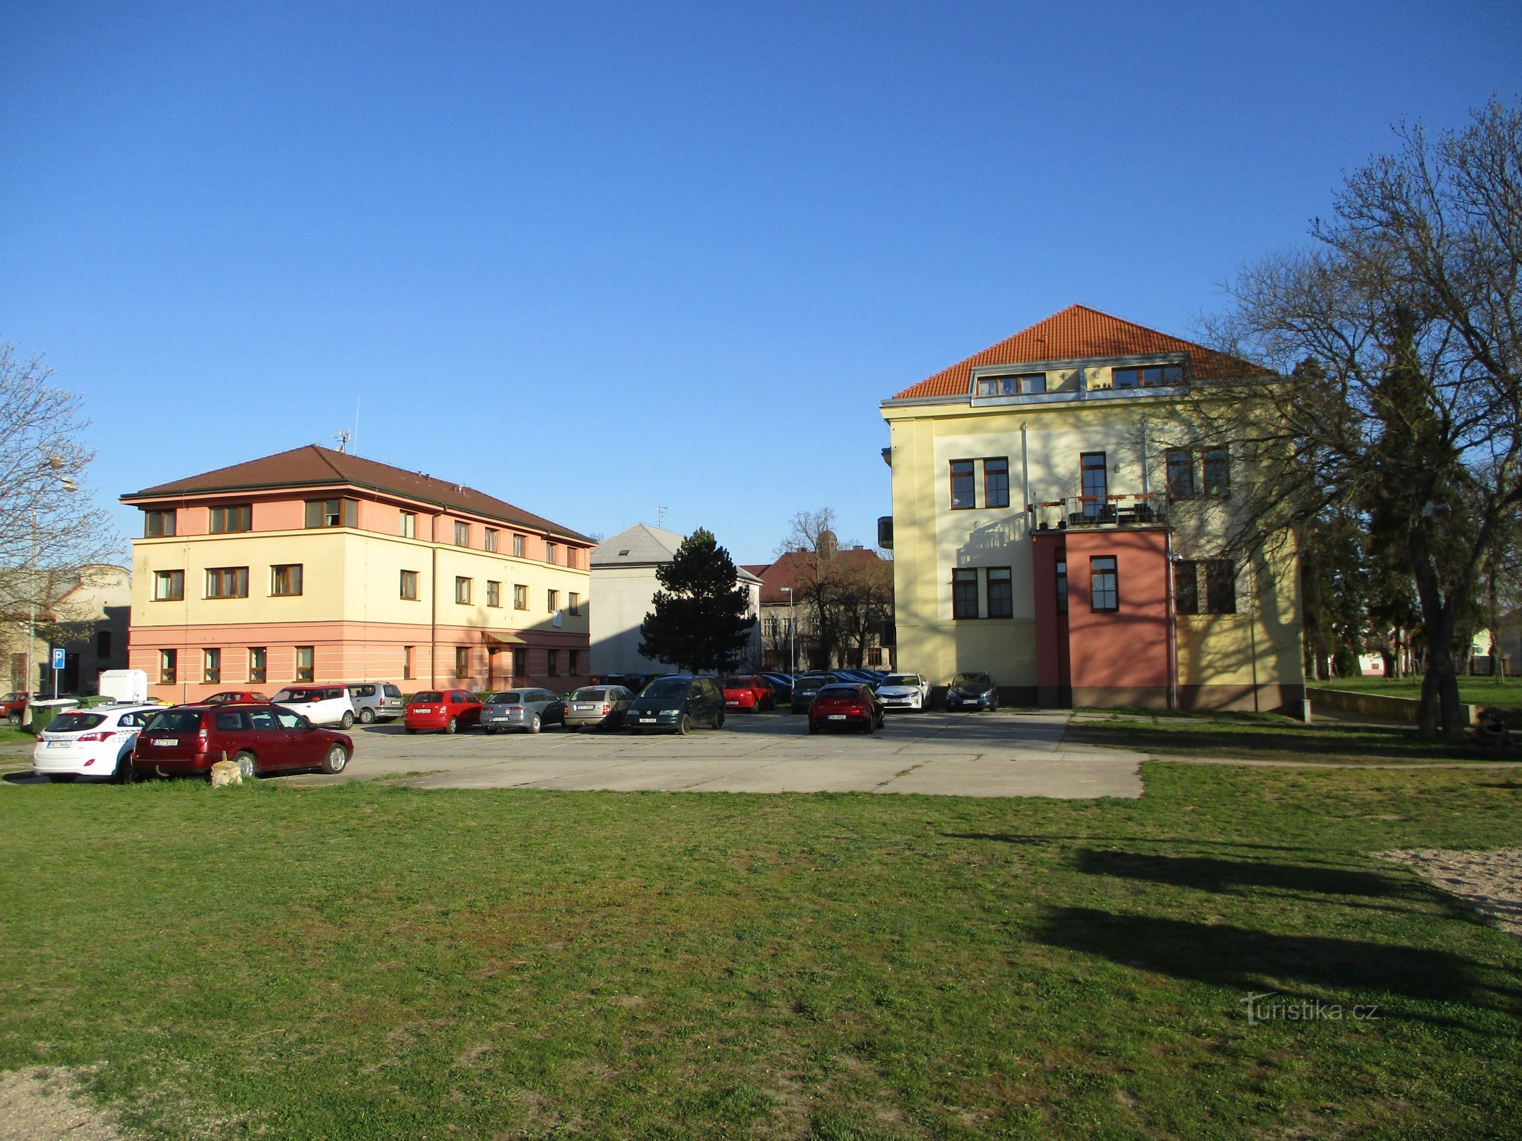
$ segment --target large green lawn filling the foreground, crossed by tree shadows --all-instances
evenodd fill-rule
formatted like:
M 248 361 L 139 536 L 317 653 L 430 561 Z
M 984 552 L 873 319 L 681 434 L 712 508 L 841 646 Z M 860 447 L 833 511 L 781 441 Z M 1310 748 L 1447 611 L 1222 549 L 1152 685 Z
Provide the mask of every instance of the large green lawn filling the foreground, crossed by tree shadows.
M 1522 780 L 1145 774 L 1134 802 L 5 785 L 0 1068 L 99 1065 L 164 1138 L 1514 1129 L 1522 943 L 1368 853 L 1522 844 Z M 1250 1025 L 1248 992 L 1344 1012 Z

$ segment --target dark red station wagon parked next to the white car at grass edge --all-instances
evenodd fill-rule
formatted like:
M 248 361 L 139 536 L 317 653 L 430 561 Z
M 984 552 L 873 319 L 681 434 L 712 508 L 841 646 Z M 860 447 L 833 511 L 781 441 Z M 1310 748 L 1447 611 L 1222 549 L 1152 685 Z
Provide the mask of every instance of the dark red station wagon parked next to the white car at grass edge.
M 347 733 L 320 729 L 286 706 L 175 706 L 154 712 L 139 732 L 132 771 L 209 773 L 233 761 L 245 779 L 292 768 L 342 773 L 353 755 Z

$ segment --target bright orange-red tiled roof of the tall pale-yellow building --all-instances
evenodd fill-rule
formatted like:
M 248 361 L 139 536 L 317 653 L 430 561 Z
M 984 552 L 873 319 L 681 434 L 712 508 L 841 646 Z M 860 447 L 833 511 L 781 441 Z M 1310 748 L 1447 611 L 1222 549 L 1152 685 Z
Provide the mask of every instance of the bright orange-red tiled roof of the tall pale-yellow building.
M 1036 361 L 1088 361 L 1106 356 L 1154 356 L 1160 353 L 1189 353 L 1195 376 L 1205 379 L 1242 374 L 1250 368 L 1230 356 L 1196 345 L 1193 341 L 1169 336 L 1134 321 L 1100 313 L 1088 306 L 1068 306 L 1061 313 L 1036 321 L 992 348 L 985 348 L 918 385 L 910 385 L 893 399 L 965 396 L 973 388 L 973 370 L 983 365 L 1023 365 Z

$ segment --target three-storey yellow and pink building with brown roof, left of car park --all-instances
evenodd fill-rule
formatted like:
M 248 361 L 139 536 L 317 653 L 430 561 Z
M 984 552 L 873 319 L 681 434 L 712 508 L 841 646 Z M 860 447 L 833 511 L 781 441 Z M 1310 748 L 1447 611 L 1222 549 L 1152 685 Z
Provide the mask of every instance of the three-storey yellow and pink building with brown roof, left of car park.
M 475 488 L 310 444 L 122 496 L 151 692 L 587 680 L 594 542 Z

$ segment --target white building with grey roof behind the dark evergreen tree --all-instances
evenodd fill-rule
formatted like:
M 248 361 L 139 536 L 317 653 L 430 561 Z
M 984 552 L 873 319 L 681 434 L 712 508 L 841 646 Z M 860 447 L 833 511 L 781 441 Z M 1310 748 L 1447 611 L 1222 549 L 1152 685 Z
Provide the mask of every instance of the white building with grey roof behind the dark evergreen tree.
M 659 526 L 635 523 L 592 548 L 591 657 L 594 674 L 670 674 L 673 666 L 639 653 L 639 624 L 654 607 L 661 583 L 656 569 L 676 558 L 683 536 Z M 761 580 L 735 567 L 735 584 L 750 595 L 750 615 L 761 612 Z M 752 644 L 741 666 L 761 660 L 761 622 L 752 628 Z

